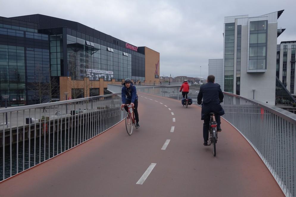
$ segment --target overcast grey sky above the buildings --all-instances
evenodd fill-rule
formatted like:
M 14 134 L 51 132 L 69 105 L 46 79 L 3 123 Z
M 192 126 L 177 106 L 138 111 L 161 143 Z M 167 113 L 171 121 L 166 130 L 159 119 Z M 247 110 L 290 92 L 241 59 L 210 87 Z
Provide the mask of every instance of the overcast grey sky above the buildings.
M 160 75 L 208 74 L 208 59 L 223 58 L 225 16 L 255 17 L 284 9 L 281 41 L 296 40 L 295 0 L 124 1 L 0 0 L 0 16 L 43 14 L 73 20 L 160 53 Z M 200 72 L 201 66 L 201 72 Z

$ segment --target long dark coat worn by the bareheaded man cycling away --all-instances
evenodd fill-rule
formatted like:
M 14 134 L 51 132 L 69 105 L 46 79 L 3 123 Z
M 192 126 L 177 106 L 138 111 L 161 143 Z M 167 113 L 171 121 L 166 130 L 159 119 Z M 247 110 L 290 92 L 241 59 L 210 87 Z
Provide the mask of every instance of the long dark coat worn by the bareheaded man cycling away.
M 220 116 L 224 115 L 224 109 L 220 105 L 223 98 L 224 95 L 219 84 L 208 82 L 202 85 L 197 96 L 197 103 L 202 103 L 201 120 L 204 120 L 211 112 Z

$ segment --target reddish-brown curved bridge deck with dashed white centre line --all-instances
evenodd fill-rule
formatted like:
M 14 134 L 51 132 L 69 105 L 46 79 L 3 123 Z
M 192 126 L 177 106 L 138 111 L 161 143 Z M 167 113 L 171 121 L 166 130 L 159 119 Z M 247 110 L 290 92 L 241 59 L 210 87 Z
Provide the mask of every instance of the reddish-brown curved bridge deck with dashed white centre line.
M 284 196 L 226 121 L 213 157 L 212 146 L 203 146 L 200 107 L 186 109 L 181 101 L 140 93 L 138 110 L 141 128 L 131 136 L 123 121 L 2 182 L 0 196 Z M 156 163 L 151 174 L 136 184 L 151 163 Z

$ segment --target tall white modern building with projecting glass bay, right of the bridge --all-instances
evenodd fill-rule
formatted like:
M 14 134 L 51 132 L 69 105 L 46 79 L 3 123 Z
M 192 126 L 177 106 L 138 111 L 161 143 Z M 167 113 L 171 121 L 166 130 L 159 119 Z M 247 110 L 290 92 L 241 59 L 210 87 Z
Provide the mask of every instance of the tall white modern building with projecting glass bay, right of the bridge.
M 221 85 L 225 92 L 275 105 L 277 37 L 284 31 L 278 28 L 278 18 L 283 12 L 225 17 Z M 212 68 L 209 60 L 209 74 L 214 74 Z

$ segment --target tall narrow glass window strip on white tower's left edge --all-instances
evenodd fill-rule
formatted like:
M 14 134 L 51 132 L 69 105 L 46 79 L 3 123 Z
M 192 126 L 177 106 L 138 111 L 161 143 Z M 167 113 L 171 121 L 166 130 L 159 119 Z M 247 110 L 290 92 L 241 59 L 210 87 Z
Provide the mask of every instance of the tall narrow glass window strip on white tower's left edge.
M 224 91 L 233 93 L 234 23 L 225 23 Z

